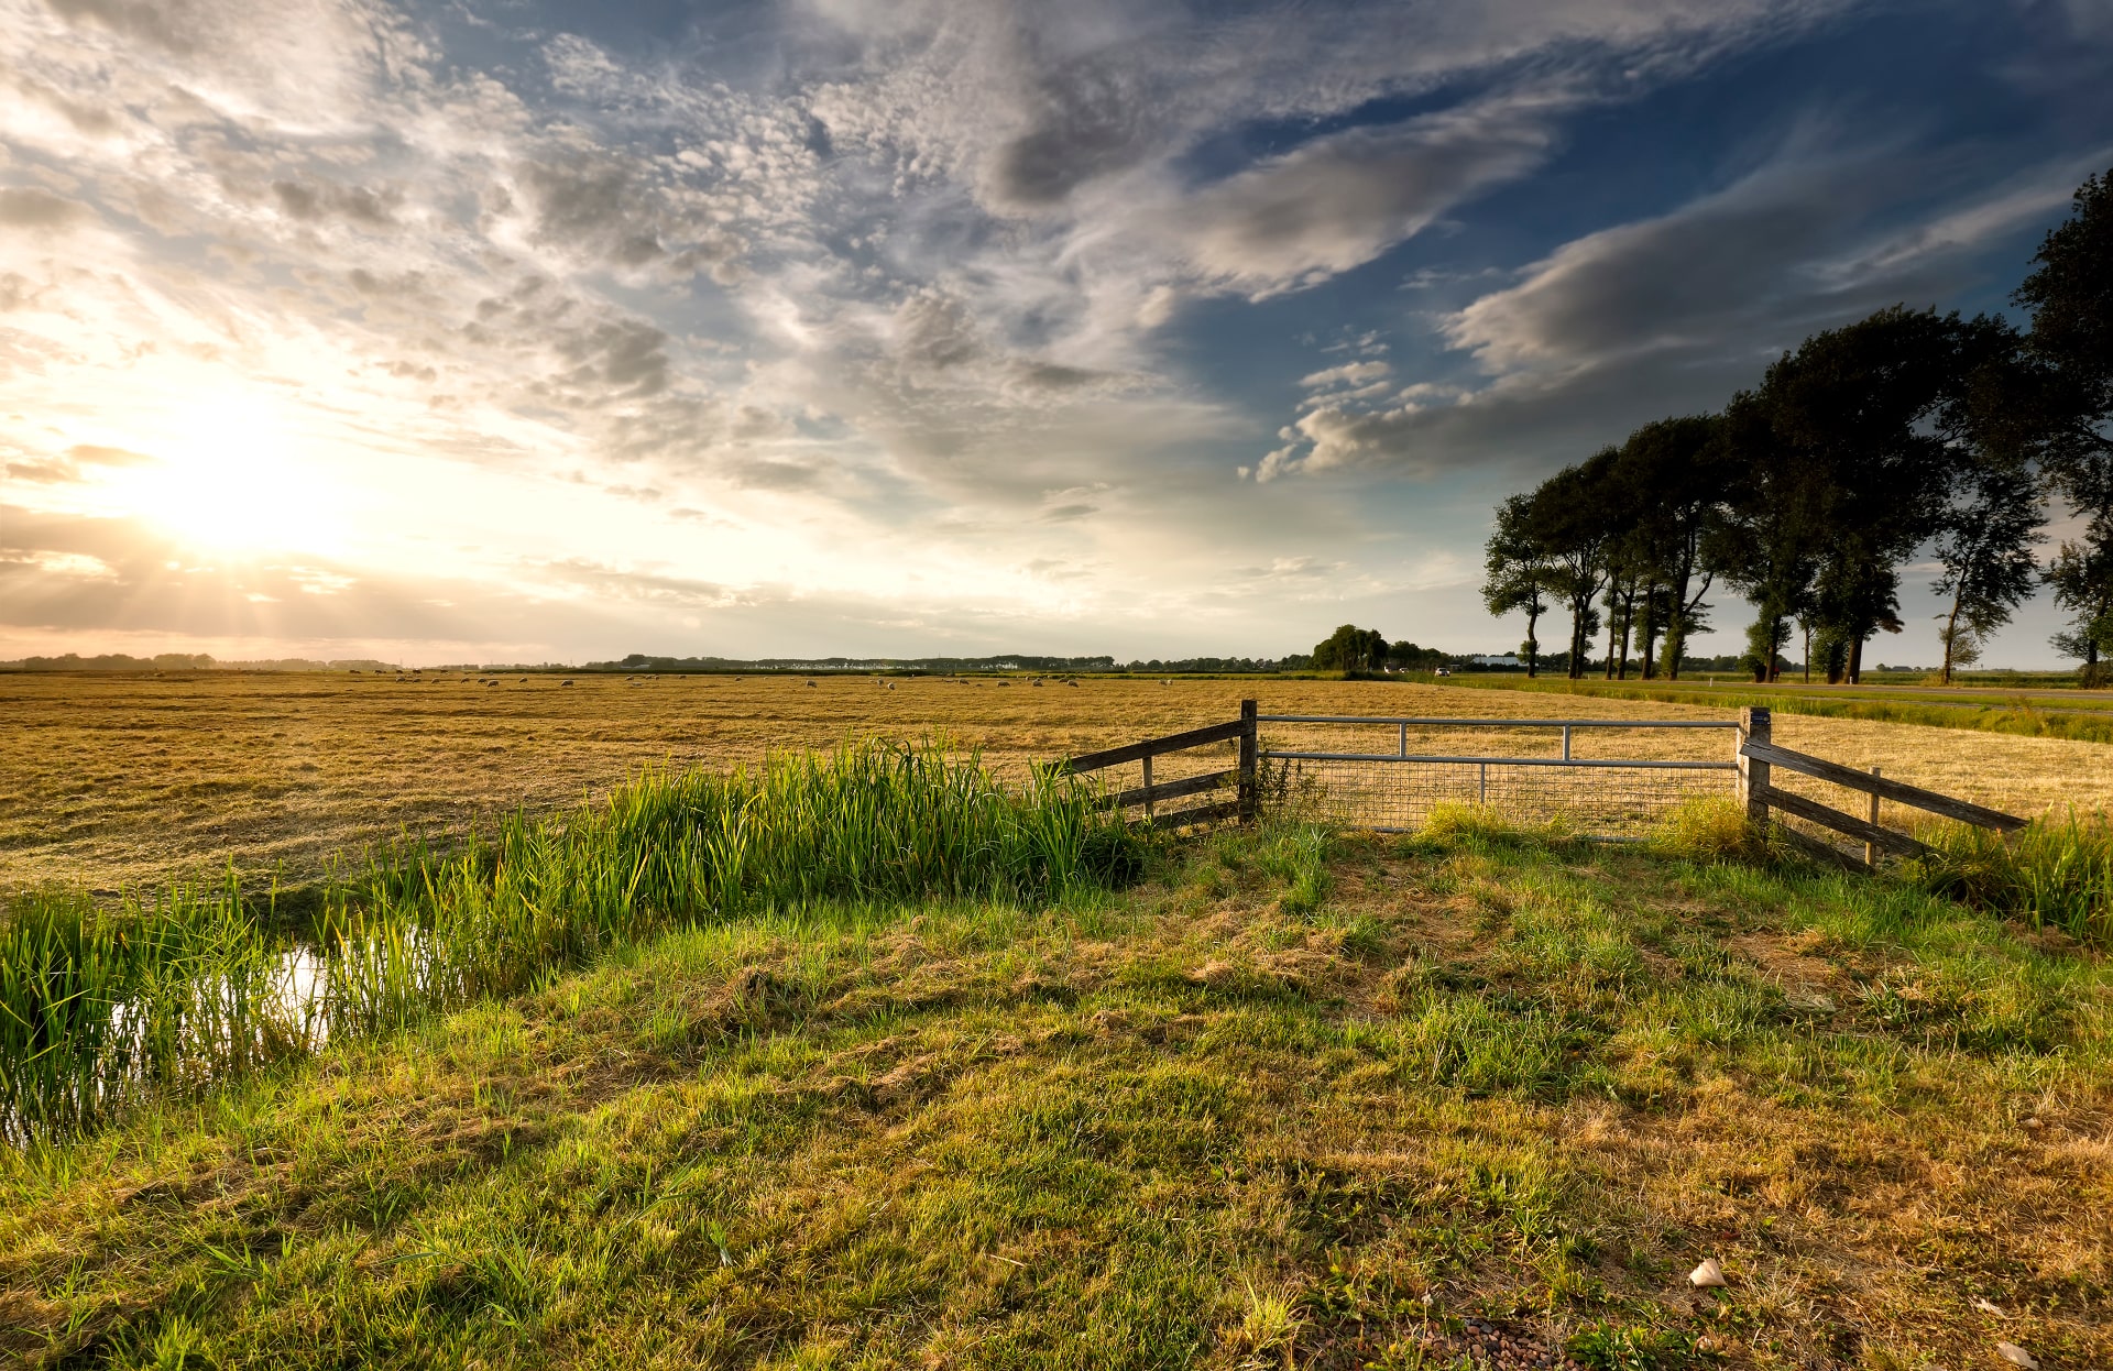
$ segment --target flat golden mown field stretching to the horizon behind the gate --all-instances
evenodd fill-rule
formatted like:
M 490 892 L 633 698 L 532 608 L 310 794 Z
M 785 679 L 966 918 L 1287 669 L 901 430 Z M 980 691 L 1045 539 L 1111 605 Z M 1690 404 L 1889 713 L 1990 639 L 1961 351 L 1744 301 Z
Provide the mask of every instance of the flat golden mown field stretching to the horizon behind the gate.
M 1359 680 L 1031 687 L 902 678 L 894 689 L 868 678 L 814 687 L 782 676 L 560 680 L 0 676 L 0 718 L 8 720 L 0 729 L 0 891 L 158 887 L 213 875 L 228 860 L 249 872 L 279 868 L 298 885 L 334 853 L 357 853 L 401 828 L 461 832 L 513 807 L 547 811 L 602 794 L 659 760 L 727 765 L 769 748 L 828 748 L 854 733 L 951 733 L 1023 773 L 1031 760 L 1232 718 L 1245 695 L 1278 714 L 1731 716 L 1697 703 Z M 1722 735 L 1703 737 L 1714 741 L 1627 735 L 1591 746 L 1633 756 L 1671 746 L 1728 754 Z M 2113 746 L 1792 714 L 1777 716 L 1775 737 L 2016 813 L 2113 803 Z M 1443 739 L 1469 744 L 1545 750 L 1549 739 Z M 1815 794 L 1828 799 L 1826 788 Z

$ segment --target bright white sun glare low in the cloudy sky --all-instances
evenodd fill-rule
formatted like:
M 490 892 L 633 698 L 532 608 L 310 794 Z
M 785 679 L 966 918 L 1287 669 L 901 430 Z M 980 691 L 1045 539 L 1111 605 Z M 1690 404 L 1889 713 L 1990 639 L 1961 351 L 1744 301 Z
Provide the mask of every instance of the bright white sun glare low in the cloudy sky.
M 123 480 L 135 511 L 199 551 L 336 551 L 342 494 L 317 471 L 279 406 L 199 403 L 146 448 L 158 461 Z

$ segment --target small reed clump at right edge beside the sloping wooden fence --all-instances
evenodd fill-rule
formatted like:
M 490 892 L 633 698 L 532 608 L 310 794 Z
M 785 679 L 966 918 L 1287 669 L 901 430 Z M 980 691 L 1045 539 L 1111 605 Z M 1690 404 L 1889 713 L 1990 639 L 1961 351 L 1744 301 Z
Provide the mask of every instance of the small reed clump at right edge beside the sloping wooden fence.
M 1965 824 L 1919 837 L 1933 851 L 1910 875 L 1933 894 L 2113 946 L 2113 818 L 2105 809 L 2041 818 L 2009 839 Z

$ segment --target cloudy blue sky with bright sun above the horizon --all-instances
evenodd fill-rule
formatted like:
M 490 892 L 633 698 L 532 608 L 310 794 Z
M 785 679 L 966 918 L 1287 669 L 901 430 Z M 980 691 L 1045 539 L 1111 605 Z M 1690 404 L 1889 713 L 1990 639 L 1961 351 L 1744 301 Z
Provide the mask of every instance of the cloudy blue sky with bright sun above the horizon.
M 2016 319 L 2109 76 L 2113 0 L 0 0 L 0 657 L 1509 651 L 1498 499 Z

